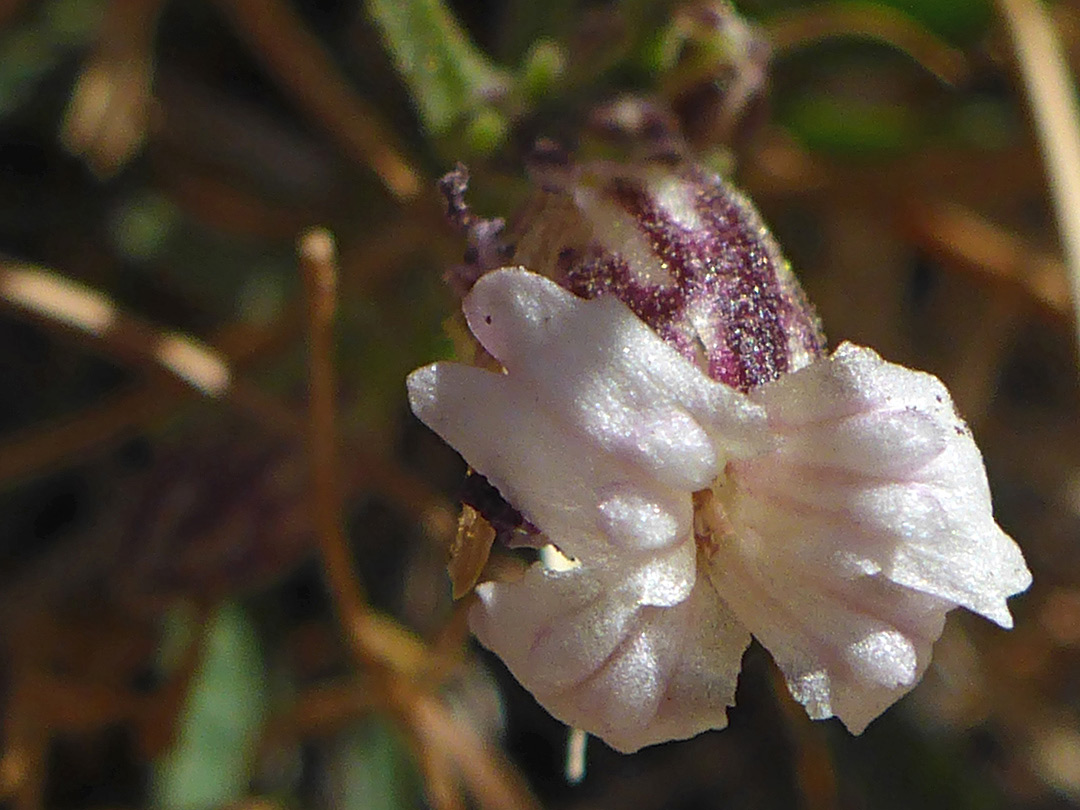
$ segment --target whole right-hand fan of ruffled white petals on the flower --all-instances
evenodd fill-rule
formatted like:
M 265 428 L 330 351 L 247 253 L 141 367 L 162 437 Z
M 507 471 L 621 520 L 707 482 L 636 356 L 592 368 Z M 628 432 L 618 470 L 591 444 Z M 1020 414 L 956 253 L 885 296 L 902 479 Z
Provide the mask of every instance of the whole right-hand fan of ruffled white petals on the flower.
M 949 608 L 1011 626 L 1030 573 L 936 378 L 843 345 L 751 396 L 780 444 L 729 465 L 710 577 L 810 714 L 861 731 L 921 676 Z

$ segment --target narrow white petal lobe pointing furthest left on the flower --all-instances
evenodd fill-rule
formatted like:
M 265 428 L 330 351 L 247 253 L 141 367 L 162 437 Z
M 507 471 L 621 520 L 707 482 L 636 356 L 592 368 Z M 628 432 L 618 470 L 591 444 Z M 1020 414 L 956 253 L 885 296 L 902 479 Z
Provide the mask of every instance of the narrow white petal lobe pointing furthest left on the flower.
M 414 413 L 564 553 L 597 563 L 689 532 L 688 495 L 599 451 L 511 375 L 435 363 L 409 375 L 408 391 Z M 677 582 L 693 577 L 684 562 Z

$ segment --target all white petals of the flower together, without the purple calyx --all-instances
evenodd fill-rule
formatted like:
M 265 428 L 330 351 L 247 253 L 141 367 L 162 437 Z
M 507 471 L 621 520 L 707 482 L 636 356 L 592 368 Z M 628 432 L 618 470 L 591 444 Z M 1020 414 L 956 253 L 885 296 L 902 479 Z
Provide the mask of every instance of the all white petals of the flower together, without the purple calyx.
M 723 728 L 753 634 L 859 732 L 950 608 L 1011 626 L 1030 575 L 936 378 L 845 343 L 741 393 L 615 297 L 524 269 L 463 308 L 505 374 L 436 363 L 409 400 L 577 563 L 483 582 L 470 615 L 561 720 L 624 752 Z

